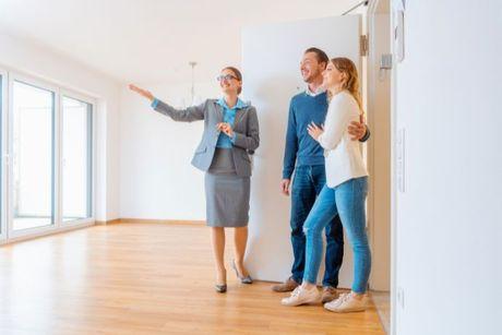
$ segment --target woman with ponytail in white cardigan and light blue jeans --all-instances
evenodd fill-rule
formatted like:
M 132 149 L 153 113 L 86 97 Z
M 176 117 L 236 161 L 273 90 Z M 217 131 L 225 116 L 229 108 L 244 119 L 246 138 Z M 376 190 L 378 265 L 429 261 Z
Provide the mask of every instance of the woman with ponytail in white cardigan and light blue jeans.
M 325 125 L 323 129 L 311 124 L 308 130 L 325 149 L 326 186 L 304 223 L 307 249 L 302 285 L 282 302 L 285 306 L 320 302 L 316 278 L 322 258 L 322 231 L 339 214 L 354 251 L 352 290 L 325 303 L 324 308 L 333 312 L 363 311 L 363 297 L 371 268 L 364 208 L 368 172 L 360 144 L 351 141 L 347 132 L 351 121 L 362 118 L 359 79 L 356 65 L 347 58 L 332 59 L 323 76 L 323 86 L 331 97 Z

